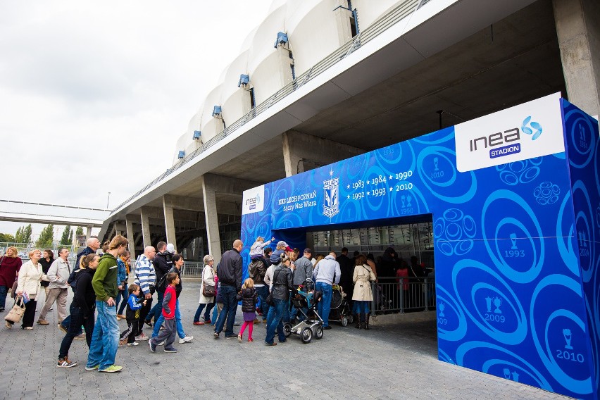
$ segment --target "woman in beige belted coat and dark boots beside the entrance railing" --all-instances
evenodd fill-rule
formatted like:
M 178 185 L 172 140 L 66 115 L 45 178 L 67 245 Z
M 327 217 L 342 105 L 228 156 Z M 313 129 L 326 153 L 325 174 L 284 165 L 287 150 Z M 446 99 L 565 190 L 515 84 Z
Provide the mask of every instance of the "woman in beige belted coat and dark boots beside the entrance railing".
M 364 327 L 365 330 L 369 329 L 369 303 L 373 301 L 371 282 L 375 282 L 376 279 L 375 273 L 367 263 L 367 258 L 363 254 L 356 256 L 356 266 L 354 267 L 354 275 L 352 275 L 352 281 L 354 282 L 352 313 L 355 314 L 358 329 L 361 327 Z

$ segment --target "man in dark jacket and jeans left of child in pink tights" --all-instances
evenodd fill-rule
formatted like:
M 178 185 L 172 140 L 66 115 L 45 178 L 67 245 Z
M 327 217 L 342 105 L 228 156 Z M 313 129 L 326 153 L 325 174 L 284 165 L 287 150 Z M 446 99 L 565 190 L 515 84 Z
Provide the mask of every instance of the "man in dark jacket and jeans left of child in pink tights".
M 225 337 L 237 339 L 237 333 L 233 332 L 233 323 L 237 311 L 237 294 L 242 291 L 242 256 L 239 252 L 243 248 L 244 244 L 237 239 L 233 242 L 233 249 L 225 251 L 218 266 L 219 294 L 223 296 L 223 311 L 215 323 L 215 338 L 219 337 L 227 320 Z

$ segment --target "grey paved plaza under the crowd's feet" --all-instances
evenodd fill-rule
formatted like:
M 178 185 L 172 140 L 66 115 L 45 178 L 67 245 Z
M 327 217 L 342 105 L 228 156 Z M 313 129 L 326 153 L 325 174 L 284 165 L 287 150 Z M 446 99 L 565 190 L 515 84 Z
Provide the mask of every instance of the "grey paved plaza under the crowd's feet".
M 193 326 L 198 297 L 199 284 L 184 282 L 180 304 L 193 342 L 175 342 L 177 354 L 162 347 L 152 354 L 147 342 L 120 346 L 116 363 L 125 368 L 115 374 L 86 371 L 87 346 L 80 340 L 69 354 L 79 365 L 56 368 L 64 336 L 56 327 L 56 311 L 49 313 L 51 325 L 31 331 L 3 327 L 0 398 L 565 399 L 437 361 L 435 321 L 379 325 L 368 332 L 332 323 L 321 340 L 302 344 L 292 335 L 285 344 L 268 347 L 263 324 L 255 325 L 254 343 L 242 344 L 223 335 L 214 339 L 210 325 Z

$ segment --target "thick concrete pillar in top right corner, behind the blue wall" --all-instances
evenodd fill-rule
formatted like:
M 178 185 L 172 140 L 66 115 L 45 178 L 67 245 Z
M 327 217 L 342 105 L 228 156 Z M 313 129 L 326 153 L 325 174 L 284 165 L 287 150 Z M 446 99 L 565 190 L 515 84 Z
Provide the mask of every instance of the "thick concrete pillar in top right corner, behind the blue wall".
M 568 99 L 590 115 L 600 114 L 600 2 L 554 0 Z

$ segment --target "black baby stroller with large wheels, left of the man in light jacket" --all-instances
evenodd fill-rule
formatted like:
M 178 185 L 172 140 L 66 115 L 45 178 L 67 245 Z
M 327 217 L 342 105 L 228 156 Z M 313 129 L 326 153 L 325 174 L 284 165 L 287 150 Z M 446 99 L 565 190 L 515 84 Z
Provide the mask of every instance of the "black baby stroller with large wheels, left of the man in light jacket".
M 321 293 L 313 292 L 313 280 L 308 278 L 304 285 L 301 285 L 296 293 L 292 293 L 292 304 L 298 308 L 298 311 L 304 315 L 304 320 L 292 326 L 290 323 L 283 325 L 285 336 L 299 335 L 302 343 L 310 343 L 313 336 L 317 339 L 323 337 L 323 319 L 317 313 L 317 304 Z M 308 311 L 305 313 L 304 308 Z M 310 316 L 309 316 L 310 315 Z

